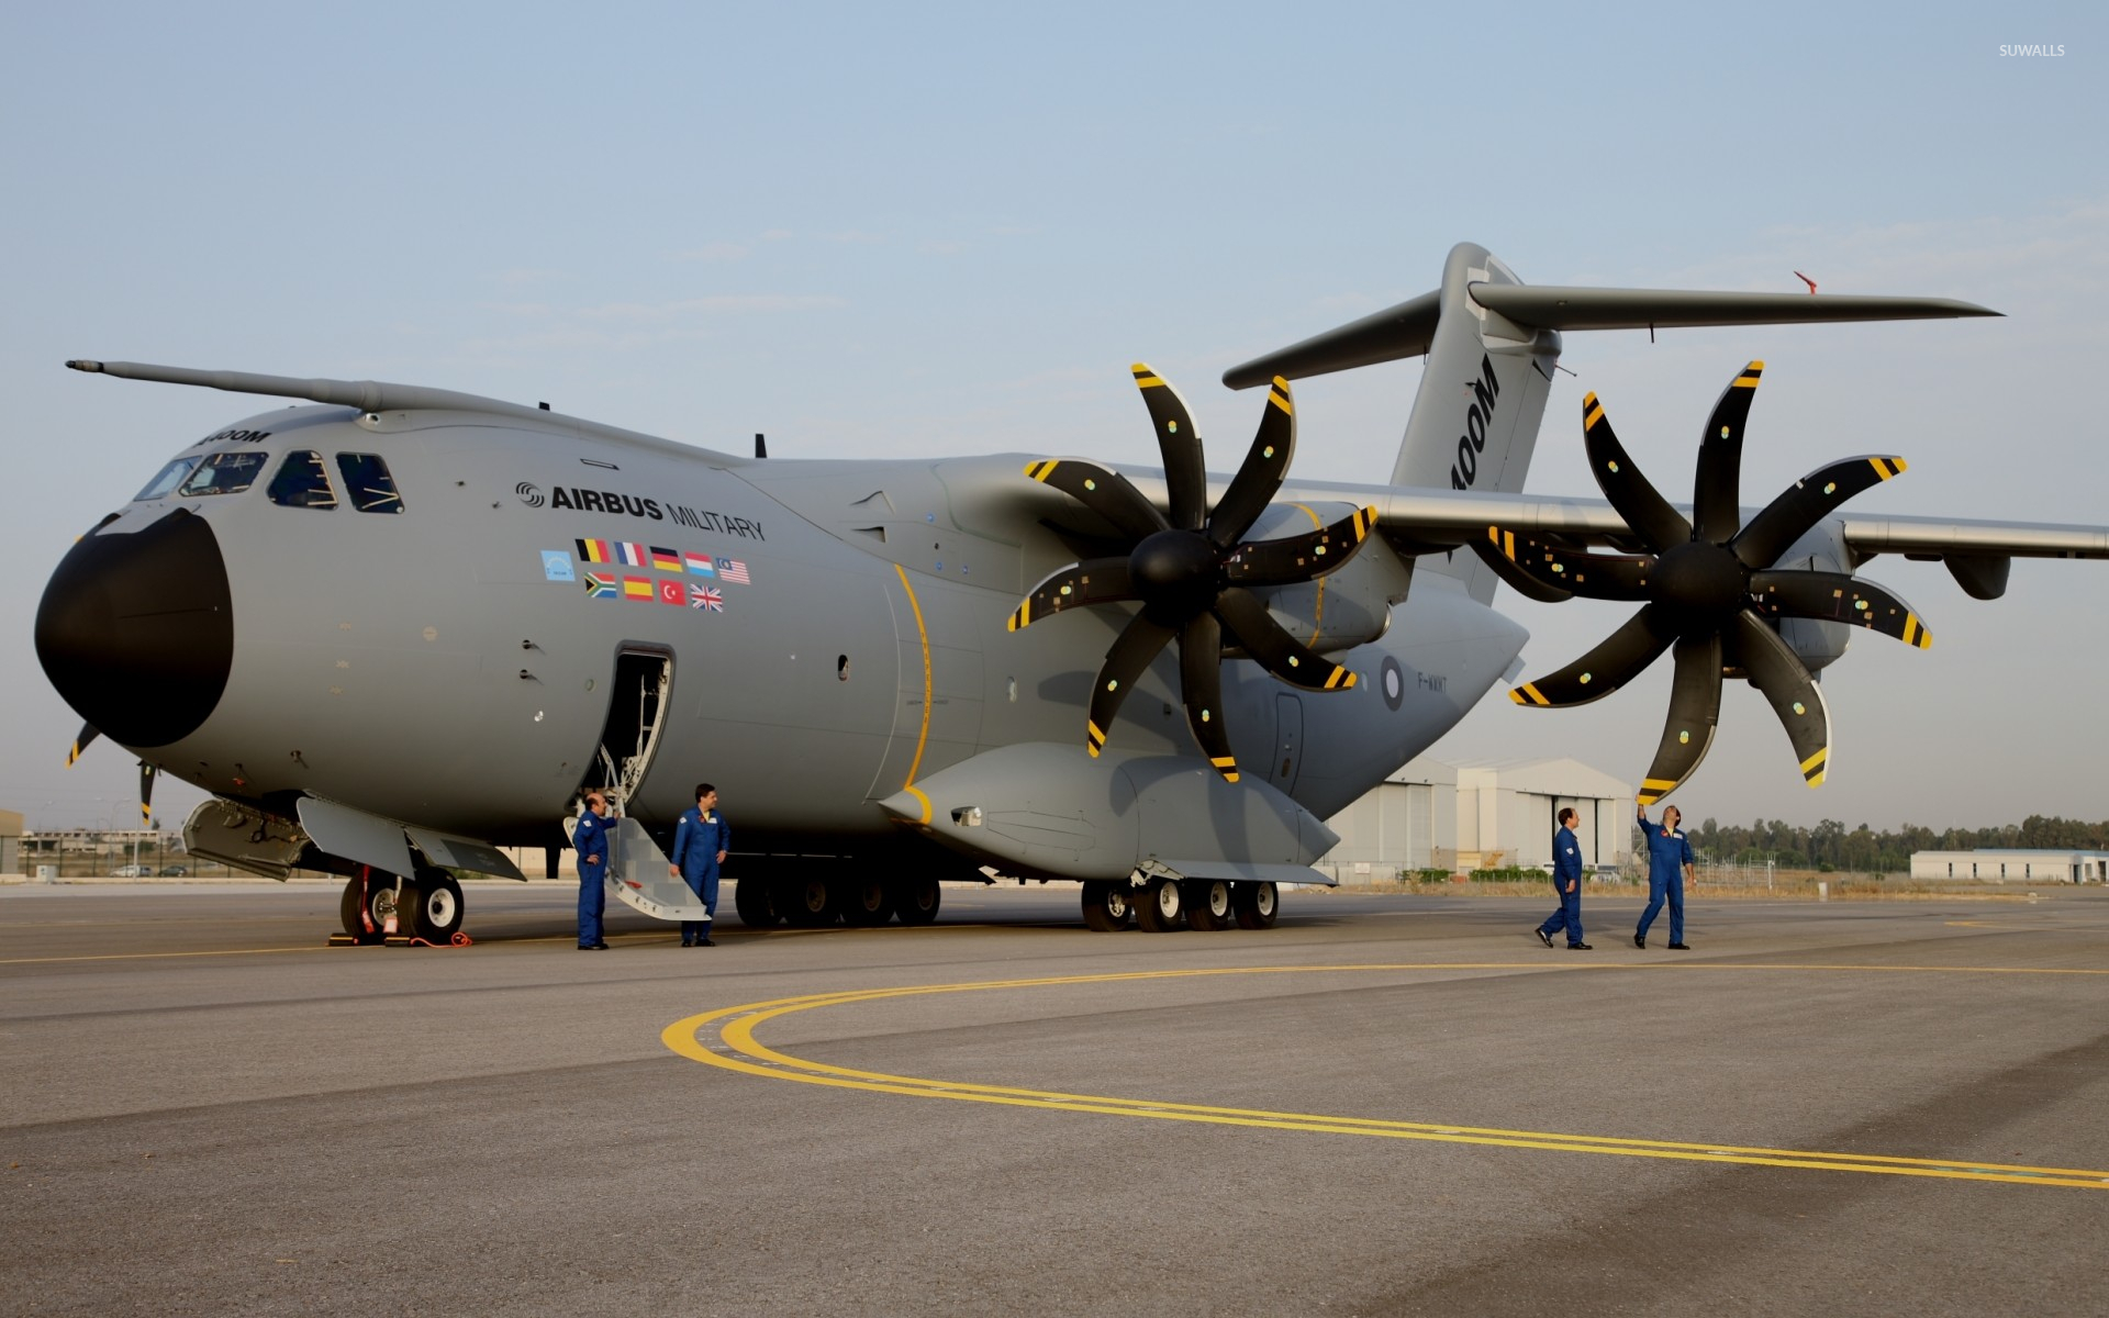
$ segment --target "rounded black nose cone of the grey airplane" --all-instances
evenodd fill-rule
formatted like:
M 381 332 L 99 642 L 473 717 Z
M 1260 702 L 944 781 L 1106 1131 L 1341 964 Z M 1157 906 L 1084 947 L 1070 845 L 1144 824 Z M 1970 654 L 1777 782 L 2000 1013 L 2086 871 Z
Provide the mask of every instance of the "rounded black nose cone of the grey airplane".
M 36 607 L 36 658 L 74 711 L 124 747 L 196 732 L 234 666 L 234 601 L 213 527 L 186 508 L 82 536 Z

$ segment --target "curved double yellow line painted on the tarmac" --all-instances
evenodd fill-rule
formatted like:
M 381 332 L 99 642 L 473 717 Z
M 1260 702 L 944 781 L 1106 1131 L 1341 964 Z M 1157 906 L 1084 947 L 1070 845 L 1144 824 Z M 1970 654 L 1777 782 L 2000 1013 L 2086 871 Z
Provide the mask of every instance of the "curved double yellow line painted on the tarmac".
M 2067 1185 L 2079 1189 L 2109 1189 L 2109 1170 L 2069 1166 L 2027 1166 L 2004 1162 L 1957 1162 L 1944 1158 L 1898 1158 L 1885 1154 L 1835 1154 L 1812 1149 L 1774 1149 L 1725 1143 L 1689 1143 L 1660 1139 L 1624 1139 L 1607 1135 L 1567 1135 L 1550 1130 L 1504 1130 L 1493 1126 L 1459 1126 L 1447 1122 L 1394 1122 L 1377 1118 L 1322 1116 L 1303 1111 L 1265 1111 L 1246 1107 L 1211 1107 L 1198 1103 L 1166 1103 L 1156 1099 L 1120 1099 L 1107 1094 L 1071 1094 L 1061 1090 L 1033 1090 L 998 1084 L 968 1084 L 957 1080 L 928 1080 L 917 1075 L 892 1075 L 886 1071 L 858 1071 L 827 1063 L 789 1057 L 755 1040 L 755 1029 L 793 1012 L 829 1006 L 854 1006 L 863 1002 L 884 1002 L 890 997 L 920 997 L 932 993 L 974 993 L 989 989 L 1046 989 L 1071 985 L 1105 985 L 1122 981 L 1152 978 L 1202 978 L 1221 974 L 1358 974 L 1358 972 L 1426 972 L 1426 970 L 1544 970 L 1535 962 L 1443 962 L 1443 964 L 1375 964 L 1375 966 L 1255 966 L 1255 968 L 1213 968 L 1213 970 L 1139 970 L 1122 974 L 1069 974 L 1048 978 L 981 981 L 960 985 L 915 985 L 896 989 L 846 989 L 837 993 L 808 993 L 799 997 L 776 997 L 740 1006 L 702 1012 L 669 1025 L 660 1040 L 673 1052 L 728 1071 L 761 1075 L 768 1080 L 793 1080 L 799 1084 L 820 1084 L 879 1094 L 905 1094 L 920 1099 L 951 1099 L 957 1103 L 995 1103 L 1004 1107 L 1038 1107 L 1048 1111 L 1088 1111 L 1101 1116 L 1128 1116 L 1170 1122 L 1202 1122 L 1215 1126 L 1249 1126 L 1272 1130 L 1303 1130 L 1318 1135 L 1365 1135 L 1379 1139 L 1417 1139 L 1436 1143 L 1497 1145 L 1516 1149 L 1554 1149 L 1565 1154 L 1613 1154 L 1622 1158 L 1668 1158 L 1679 1162 L 1729 1162 L 1742 1166 L 1793 1166 L 1810 1170 L 1873 1172 L 1888 1177 L 1934 1177 L 1949 1181 L 2006 1181 L 2016 1185 Z M 1734 964 L 1664 964 L 1630 966 L 1632 970 L 1666 972 L 1750 972 L 1750 970 L 1858 970 L 1858 972 L 1917 972 L 1917 974 L 2109 974 L 2109 970 L 2029 970 L 2008 966 L 1734 966 Z M 1599 970 L 1597 966 L 1573 966 L 1563 970 Z M 1554 974 L 1563 972 L 1554 970 Z M 1601 970 L 1622 970 L 1622 966 L 1601 966 Z M 717 1044 L 702 1040 L 704 1031 L 715 1031 Z

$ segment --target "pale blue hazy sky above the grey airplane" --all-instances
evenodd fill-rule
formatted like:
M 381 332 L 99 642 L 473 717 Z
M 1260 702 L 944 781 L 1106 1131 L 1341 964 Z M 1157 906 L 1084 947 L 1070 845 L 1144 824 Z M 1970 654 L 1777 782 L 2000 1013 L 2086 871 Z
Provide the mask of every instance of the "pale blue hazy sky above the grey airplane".
M 432 384 L 778 458 L 1154 462 L 1130 361 L 1234 466 L 1259 352 L 1432 289 L 1457 240 L 1529 283 L 1923 293 L 2004 321 L 1569 335 L 1529 491 L 1594 496 L 1580 396 L 1689 498 L 1767 363 L 1744 496 L 1854 453 L 1856 510 L 2109 523 L 2101 4 L 0 6 L 0 808 L 131 816 L 32 620 L 72 540 L 270 401 L 70 356 Z M 2001 55 L 1999 46 L 2063 46 Z M 1297 386 L 1297 472 L 1381 481 L 1419 365 Z M 1757 692 L 1694 820 L 2109 816 L 2109 563 L 1866 576 L 1928 652 L 1824 675 L 1807 791 Z M 329 582 L 318 582 L 327 588 Z M 1535 605 L 1529 675 L 1626 605 Z M 1584 711 L 1499 690 L 1436 755 L 1647 768 L 1668 662 Z M 162 784 L 177 822 L 198 795 Z

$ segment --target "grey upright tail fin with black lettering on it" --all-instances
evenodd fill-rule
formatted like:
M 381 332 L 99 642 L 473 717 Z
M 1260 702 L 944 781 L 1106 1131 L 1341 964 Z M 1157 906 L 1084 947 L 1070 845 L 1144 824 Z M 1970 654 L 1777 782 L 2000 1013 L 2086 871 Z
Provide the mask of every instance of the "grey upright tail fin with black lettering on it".
M 1529 329 L 1472 299 L 1472 285 L 1521 285 L 1493 253 L 1459 243 L 1443 266 L 1436 327 L 1428 367 L 1398 443 L 1392 485 L 1516 493 L 1537 447 L 1537 422 L 1552 390 L 1561 335 Z M 1495 576 L 1472 555 L 1428 559 L 1466 584 L 1472 599 L 1493 601 Z

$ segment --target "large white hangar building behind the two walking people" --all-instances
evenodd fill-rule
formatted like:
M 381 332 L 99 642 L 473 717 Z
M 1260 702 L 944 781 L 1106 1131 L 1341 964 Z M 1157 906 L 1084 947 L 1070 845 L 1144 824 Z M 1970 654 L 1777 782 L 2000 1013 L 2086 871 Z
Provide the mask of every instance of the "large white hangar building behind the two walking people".
M 1327 820 L 1339 846 L 1316 869 L 1341 884 L 1400 871 L 1550 865 L 1559 810 L 1582 822 L 1582 862 L 1622 865 L 1632 844 L 1632 787 L 1575 759 L 1419 757 Z

